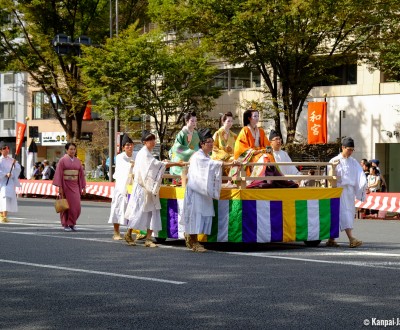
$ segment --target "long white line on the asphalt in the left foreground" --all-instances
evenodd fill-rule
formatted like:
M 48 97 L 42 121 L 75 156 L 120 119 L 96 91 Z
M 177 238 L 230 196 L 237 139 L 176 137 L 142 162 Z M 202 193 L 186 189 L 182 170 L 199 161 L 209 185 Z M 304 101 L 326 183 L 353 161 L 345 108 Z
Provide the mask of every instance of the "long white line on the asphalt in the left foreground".
M 134 280 L 161 282 L 161 283 L 169 283 L 169 284 L 177 284 L 177 285 L 186 284 L 187 283 L 187 282 L 180 282 L 180 281 L 164 280 L 164 279 L 155 278 L 155 277 L 142 277 L 142 276 L 134 276 L 134 275 L 126 275 L 126 274 L 99 272 L 99 271 L 95 271 L 95 270 L 86 270 L 86 269 L 79 269 L 79 268 L 61 267 L 61 266 L 44 265 L 44 264 L 35 264 L 35 263 L 31 263 L 31 262 L 21 262 L 21 261 L 15 261 L 15 260 L 0 259 L 0 262 L 8 263 L 8 264 L 14 264 L 14 265 L 31 266 L 31 267 L 38 267 L 38 268 L 48 268 L 48 269 L 56 269 L 56 270 L 66 270 L 66 271 L 69 271 L 69 272 L 86 273 L 86 274 L 94 274 L 94 275 L 104 275 L 104 276 L 113 276 L 113 277 L 122 277 L 122 278 L 134 279 Z

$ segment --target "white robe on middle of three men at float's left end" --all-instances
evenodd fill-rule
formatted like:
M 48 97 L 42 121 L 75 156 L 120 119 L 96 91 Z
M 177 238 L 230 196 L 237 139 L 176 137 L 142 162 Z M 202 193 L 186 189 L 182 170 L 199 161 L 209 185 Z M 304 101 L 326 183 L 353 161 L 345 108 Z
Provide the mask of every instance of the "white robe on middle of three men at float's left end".
M 162 229 L 159 190 L 165 168 L 146 146 L 136 155 L 133 189 L 125 212 L 129 228 L 151 229 L 155 235 Z

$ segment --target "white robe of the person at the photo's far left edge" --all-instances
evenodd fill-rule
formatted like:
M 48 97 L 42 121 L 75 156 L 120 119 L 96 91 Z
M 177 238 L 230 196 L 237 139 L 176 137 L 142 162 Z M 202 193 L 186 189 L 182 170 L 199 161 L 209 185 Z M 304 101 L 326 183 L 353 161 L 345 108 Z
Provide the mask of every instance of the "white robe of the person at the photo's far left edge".
M 0 157 L 0 211 L 17 212 L 17 194 L 15 187 L 21 187 L 18 180 L 21 173 L 21 165 L 15 162 L 7 184 L 6 174 L 10 172 L 13 158 L 10 156 Z

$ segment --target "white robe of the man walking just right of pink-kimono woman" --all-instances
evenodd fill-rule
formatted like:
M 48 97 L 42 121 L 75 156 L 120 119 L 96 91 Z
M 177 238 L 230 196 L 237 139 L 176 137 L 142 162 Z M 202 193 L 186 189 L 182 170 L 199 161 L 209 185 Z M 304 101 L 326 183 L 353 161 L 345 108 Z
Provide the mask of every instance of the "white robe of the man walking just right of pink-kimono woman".
M 125 219 L 126 206 L 128 204 L 127 184 L 129 174 L 131 174 L 133 155 L 128 157 L 125 152 L 117 155 L 115 161 L 114 194 L 111 201 L 111 210 L 108 223 L 119 223 L 126 226 L 128 220 Z

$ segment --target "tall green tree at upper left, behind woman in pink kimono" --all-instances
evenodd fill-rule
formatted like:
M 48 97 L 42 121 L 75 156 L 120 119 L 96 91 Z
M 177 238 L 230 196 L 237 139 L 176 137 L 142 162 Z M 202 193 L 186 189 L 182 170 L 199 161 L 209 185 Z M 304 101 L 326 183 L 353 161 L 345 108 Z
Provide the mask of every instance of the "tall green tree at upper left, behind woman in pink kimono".
M 122 27 L 139 18 L 144 20 L 143 3 L 124 2 L 120 10 Z M 88 98 L 77 66 L 78 46 L 72 45 L 64 49 L 67 54 L 60 54 L 53 47 L 53 39 L 65 34 L 74 43 L 85 35 L 94 44 L 103 43 L 110 34 L 109 4 L 109 0 L 0 0 L 0 67 L 28 72 L 32 85 L 47 95 L 54 117 L 69 139 L 80 138 Z

